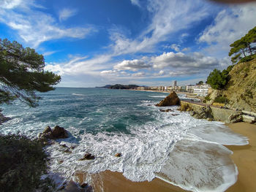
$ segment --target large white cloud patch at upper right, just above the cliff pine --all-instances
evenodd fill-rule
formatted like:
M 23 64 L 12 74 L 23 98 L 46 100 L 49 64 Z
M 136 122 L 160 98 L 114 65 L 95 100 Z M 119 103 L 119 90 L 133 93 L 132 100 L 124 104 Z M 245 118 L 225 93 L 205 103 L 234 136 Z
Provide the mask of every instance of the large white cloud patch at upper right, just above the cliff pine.
M 198 41 L 211 45 L 206 49 L 208 53 L 219 53 L 221 57 L 227 55 L 229 45 L 256 26 L 255 12 L 256 3 L 222 10 L 214 23 L 203 31 Z

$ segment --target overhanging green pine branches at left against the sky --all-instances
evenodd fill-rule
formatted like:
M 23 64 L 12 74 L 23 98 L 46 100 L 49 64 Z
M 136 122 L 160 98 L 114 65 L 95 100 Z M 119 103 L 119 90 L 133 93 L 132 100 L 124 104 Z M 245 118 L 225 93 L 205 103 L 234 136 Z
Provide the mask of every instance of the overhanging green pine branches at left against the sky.
M 61 77 L 45 72 L 45 59 L 29 47 L 18 42 L 0 39 L 0 104 L 14 99 L 37 106 L 35 91 L 52 91 Z

